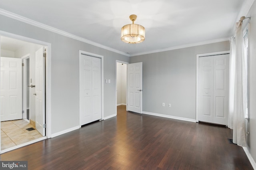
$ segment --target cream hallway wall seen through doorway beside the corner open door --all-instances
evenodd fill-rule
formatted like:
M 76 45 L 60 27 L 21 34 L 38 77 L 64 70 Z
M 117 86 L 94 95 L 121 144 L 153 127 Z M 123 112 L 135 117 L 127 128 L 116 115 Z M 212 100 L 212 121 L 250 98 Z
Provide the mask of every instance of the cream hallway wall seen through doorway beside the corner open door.
M 116 61 L 116 106 L 126 106 L 127 64 L 124 61 Z

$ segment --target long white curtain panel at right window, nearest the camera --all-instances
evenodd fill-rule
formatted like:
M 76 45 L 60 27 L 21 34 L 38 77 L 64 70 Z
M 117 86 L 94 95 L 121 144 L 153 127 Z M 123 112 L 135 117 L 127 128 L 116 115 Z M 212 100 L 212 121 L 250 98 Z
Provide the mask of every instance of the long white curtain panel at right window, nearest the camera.
M 235 51 L 233 142 L 246 147 L 246 65 L 243 51 L 242 21 L 236 23 Z M 232 114 L 230 114 L 231 117 Z M 230 127 L 232 127 L 232 118 L 230 119 Z

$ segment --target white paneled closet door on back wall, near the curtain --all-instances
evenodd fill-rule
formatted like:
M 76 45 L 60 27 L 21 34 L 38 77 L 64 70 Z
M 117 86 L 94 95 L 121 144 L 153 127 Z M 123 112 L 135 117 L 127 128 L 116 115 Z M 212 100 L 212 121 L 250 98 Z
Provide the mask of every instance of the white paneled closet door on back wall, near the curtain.
M 199 121 L 228 125 L 229 54 L 199 57 Z

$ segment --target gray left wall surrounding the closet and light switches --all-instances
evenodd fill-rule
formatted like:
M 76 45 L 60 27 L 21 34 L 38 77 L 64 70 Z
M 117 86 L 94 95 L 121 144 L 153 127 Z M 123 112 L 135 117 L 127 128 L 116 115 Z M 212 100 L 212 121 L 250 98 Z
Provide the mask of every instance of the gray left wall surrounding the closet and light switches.
M 0 30 L 51 43 L 52 134 L 79 125 L 79 50 L 104 56 L 104 117 L 116 113 L 116 60 L 129 57 L 0 15 Z

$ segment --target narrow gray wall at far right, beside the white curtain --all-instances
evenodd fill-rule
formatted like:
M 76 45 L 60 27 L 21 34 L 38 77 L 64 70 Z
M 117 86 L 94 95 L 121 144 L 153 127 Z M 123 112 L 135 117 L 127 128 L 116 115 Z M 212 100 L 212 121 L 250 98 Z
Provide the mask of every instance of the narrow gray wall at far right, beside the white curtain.
M 249 32 L 249 129 L 250 134 L 247 138 L 247 144 L 250 154 L 254 161 L 256 161 L 256 2 L 252 5 L 249 14 L 250 32 Z

